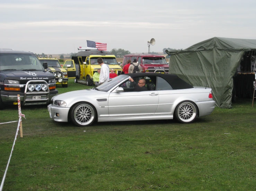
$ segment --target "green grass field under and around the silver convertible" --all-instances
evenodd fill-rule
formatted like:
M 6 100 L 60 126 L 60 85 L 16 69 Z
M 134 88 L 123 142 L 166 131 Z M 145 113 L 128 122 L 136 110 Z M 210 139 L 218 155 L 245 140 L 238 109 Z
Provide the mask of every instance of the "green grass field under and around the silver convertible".
M 69 81 L 60 93 L 90 88 Z M 174 120 L 55 122 L 46 106 L 22 107 L 3 190 L 255 190 L 256 105 L 238 99 L 191 124 Z M 17 106 L 0 122 L 18 120 Z M 0 125 L 2 180 L 17 123 Z

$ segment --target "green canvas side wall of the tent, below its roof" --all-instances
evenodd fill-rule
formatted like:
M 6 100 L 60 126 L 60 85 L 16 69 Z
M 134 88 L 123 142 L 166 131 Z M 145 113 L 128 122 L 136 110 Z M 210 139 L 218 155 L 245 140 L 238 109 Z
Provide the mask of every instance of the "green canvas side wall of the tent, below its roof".
M 231 108 L 232 77 L 242 54 L 243 51 L 233 52 L 217 48 L 174 54 L 170 56 L 169 73 L 177 74 L 192 86 L 212 88 L 216 105 L 220 108 Z

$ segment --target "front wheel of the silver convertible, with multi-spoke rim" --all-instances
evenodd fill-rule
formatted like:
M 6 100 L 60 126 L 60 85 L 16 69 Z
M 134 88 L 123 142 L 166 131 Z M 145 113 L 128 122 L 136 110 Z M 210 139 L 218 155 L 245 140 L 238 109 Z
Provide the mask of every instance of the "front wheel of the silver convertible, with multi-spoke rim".
M 72 122 L 79 127 L 91 125 L 97 116 L 95 107 L 87 102 L 75 104 L 70 115 Z

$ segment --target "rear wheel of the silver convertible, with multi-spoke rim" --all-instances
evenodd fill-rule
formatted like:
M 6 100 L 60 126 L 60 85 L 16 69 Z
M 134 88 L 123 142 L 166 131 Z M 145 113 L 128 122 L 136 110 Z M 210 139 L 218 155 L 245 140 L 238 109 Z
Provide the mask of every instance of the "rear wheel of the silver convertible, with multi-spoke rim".
M 175 109 L 175 118 L 180 123 L 192 123 L 197 116 L 197 107 L 192 101 L 180 102 Z

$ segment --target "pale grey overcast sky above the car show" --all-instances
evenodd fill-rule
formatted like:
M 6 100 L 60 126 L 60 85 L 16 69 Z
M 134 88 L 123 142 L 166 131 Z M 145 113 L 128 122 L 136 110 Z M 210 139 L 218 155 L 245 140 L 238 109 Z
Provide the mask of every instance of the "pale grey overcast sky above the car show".
M 148 52 L 212 38 L 256 39 L 256 1 L 0 0 L 0 48 L 61 54 L 86 40 Z

